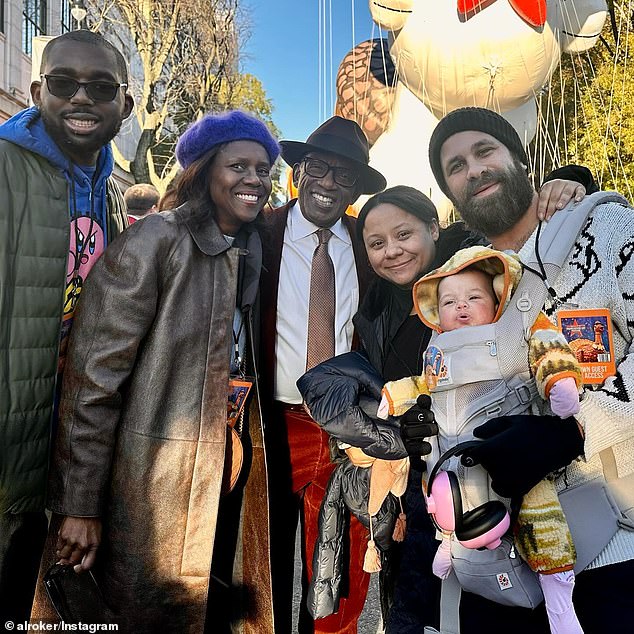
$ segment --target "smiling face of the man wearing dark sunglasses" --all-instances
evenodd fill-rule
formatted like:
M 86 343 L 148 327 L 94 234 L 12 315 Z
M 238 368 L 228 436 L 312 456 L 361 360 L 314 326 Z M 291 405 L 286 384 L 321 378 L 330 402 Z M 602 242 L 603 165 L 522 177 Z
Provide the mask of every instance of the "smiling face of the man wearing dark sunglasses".
M 85 42 L 65 41 L 55 46 L 42 74 L 61 75 L 79 82 L 103 80 L 122 83 L 114 53 Z M 31 96 L 42 112 L 46 131 L 59 149 L 78 165 L 94 165 L 132 111 L 132 97 L 120 88 L 112 101 L 93 101 L 84 87 L 72 97 L 56 97 L 46 80 L 33 82 Z

